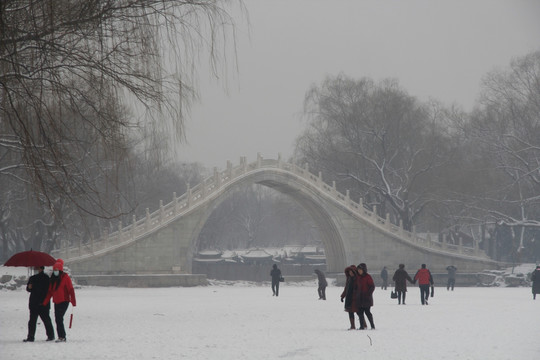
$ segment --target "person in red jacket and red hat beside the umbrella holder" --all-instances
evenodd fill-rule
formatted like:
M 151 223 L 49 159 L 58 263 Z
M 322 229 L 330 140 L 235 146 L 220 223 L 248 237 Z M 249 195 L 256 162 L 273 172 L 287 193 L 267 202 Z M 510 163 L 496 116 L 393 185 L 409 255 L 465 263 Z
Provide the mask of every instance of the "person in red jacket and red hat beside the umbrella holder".
M 64 261 L 58 259 L 53 265 L 53 275 L 49 285 L 49 291 L 43 305 L 47 306 L 51 297 L 54 302 L 54 319 L 56 321 L 56 332 L 58 333 L 58 340 L 56 342 L 66 341 L 66 329 L 64 328 L 64 314 L 67 311 L 69 303 L 73 306 L 77 306 L 77 300 L 75 299 L 75 290 L 73 289 L 73 283 L 68 274 L 64 272 Z

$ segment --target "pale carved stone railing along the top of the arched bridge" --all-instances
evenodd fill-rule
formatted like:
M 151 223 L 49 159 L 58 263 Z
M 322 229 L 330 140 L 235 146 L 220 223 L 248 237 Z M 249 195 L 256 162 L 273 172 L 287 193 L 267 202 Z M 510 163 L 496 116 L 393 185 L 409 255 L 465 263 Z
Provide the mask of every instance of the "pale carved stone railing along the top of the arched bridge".
M 179 216 L 183 216 L 196 208 L 199 204 L 204 203 L 207 198 L 218 194 L 224 185 L 233 182 L 238 177 L 265 168 L 282 169 L 295 174 L 333 201 L 346 207 L 362 220 L 369 221 L 383 231 L 394 233 L 402 240 L 418 246 L 445 252 L 487 257 L 485 253 L 478 248 L 469 248 L 462 246 L 461 244 L 456 246 L 447 244 L 444 241 L 440 242 L 422 238 L 416 234 L 414 228 L 412 232 L 404 230 L 403 226 L 391 223 L 389 216 L 382 218 L 377 215 L 376 209 L 372 211 L 366 208 L 363 205 L 362 199 L 360 199 L 359 202 L 351 200 L 348 190 L 345 194 L 337 191 L 335 182 L 332 182 L 331 185 L 325 183 L 322 180 L 322 174 L 319 173 L 316 175 L 311 173 L 307 164 L 304 167 L 300 167 L 294 163 L 283 162 L 281 156 L 278 156 L 277 160 L 263 159 L 260 154 L 257 155 L 257 160 L 252 163 L 248 163 L 246 157 L 241 157 L 240 164 L 235 167 L 233 167 L 229 161 L 227 162 L 225 170 L 218 171 L 214 168 L 212 176 L 204 179 L 193 188 L 188 186 L 186 193 L 180 197 L 177 197 L 176 193 L 173 193 L 172 201 L 165 205 L 163 205 L 163 200 L 160 200 L 159 208 L 152 213 L 146 209 L 145 217 L 137 220 L 135 219 L 135 216 L 133 216 L 131 224 L 124 226 L 120 222 L 118 223 L 116 230 L 112 230 L 111 227 L 103 230 L 99 239 L 91 239 L 85 244 L 80 243 L 78 245 L 63 246 L 61 249 L 53 251 L 53 253 L 58 257 L 63 256 L 64 259 L 73 259 L 97 255 L 127 245 L 161 228 L 170 221 L 177 219 Z

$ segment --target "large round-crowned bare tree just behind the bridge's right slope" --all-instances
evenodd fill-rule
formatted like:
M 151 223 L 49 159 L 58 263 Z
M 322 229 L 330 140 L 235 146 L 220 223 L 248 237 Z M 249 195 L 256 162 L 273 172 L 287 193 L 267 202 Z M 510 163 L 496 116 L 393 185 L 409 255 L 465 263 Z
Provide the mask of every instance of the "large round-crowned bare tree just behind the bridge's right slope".
M 442 106 L 420 104 L 394 80 L 340 75 L 308 91 L 305 114 L 297 157 L 411 229 L 433 201 L 432 174 L 452 153 Z

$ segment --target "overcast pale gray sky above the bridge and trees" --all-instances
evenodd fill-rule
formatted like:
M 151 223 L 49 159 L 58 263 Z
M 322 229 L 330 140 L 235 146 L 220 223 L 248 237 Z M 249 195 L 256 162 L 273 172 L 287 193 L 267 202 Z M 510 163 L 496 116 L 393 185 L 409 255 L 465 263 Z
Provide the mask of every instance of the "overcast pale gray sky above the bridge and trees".
M 304 95 L 329 75 L 397 78 L 420 100 L 470 110 L 482 76 L 540 50 L 540 0 L 244 3 L 250 26 L 235 16 L 238 73 L 216 82 L 199 68 L 183 161 L 224 168 L 257 152 L 288 158 L 304 126 Z

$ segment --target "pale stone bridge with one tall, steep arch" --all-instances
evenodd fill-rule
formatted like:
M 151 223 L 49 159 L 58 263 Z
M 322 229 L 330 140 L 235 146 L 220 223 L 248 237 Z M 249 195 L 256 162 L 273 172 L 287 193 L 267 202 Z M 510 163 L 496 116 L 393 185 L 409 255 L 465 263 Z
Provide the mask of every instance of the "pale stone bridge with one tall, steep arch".
M 327 272 L 341 273 L 350 264 L 366 262 L 374 271 L 383 266 L 393 269 L 404 263 L 416 269 L 421 263 L 435 272 L 445 272 L 449 264 L 463 272 L 495 268 L 483 250 L 447 244 L 438 239 L 419 237 L 381 218 L 349 198 L 349 192 L 336 190 L 322 176 L 312 174 L 308 166 L 299 167 L 277 160 L 253 163 L 245 157 L 224 171 L 214 169 L 205 179 L 180 197 L 173 194 L 170 203 L 160 202 L 153 213 L 147 210 L 142 219 L 129 225 L 119 224 L 116 231 L 105 233 L 87 244 L 64 247 L 53 255 L 61 257 L 77 275 L 191 274 L 197 241 L 212 211 L 239 186 L 261 184 L 290 196 L 319 225 L 326 252 Z

